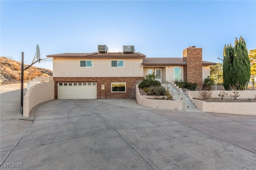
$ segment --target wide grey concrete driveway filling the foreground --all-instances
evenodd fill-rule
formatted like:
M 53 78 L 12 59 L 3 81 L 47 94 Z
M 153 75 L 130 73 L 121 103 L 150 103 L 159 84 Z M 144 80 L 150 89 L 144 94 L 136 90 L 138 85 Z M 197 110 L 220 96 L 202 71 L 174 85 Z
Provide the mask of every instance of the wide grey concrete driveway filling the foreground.
M 12 120 L 1 120 L 2 170 L 256 169 L 256 116 L 52 100 L 34 121 Z

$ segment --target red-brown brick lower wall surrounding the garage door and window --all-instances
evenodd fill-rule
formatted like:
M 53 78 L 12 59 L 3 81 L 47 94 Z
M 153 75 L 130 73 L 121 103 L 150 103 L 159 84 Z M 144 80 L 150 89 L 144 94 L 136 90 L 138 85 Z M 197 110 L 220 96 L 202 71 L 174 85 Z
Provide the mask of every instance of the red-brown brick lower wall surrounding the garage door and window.
M 135 85 L 139 84 L 143 77 L 54 77 L 54 99 L 58 98 L 58 82 L 96 82 L 97 99 L 135 99 Z M 126 82 L 126 92 L 111 92 L 112 82 Z M 104 85 L 104 90 L 101 90 Z

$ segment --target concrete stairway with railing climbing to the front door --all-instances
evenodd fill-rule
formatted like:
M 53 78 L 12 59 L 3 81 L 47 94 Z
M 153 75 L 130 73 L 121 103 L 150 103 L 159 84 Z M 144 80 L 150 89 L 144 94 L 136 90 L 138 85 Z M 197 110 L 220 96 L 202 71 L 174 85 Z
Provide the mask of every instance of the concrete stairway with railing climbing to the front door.
M 166 87 L 166 84 L 162 84 L 163 87 Z M 180 100 L 183 102 L 183 111 L 200 111 L 199 109 L 196 108 L 196 105 L 192 102 L 192 100 L 189 99 L 189 97 L 186 95 L 185 92 L 182 91 L 181 88 L 179 88 L 178 86 L 176 86 L 175 84 L 173 86 L 175 86 L 176 88 L 172 87 L 172 84 L 167 84 L 169 91 L 171 94 L 173 94 L 172 98 L 174 100 Z M 179 92 L 176 90 L 178 89 Z M 182 96 L 181 96 L 181 95 Z M 185 100 L 185 102 L 184 102 Z M 186 104 L 186 106 L 184 106 Z

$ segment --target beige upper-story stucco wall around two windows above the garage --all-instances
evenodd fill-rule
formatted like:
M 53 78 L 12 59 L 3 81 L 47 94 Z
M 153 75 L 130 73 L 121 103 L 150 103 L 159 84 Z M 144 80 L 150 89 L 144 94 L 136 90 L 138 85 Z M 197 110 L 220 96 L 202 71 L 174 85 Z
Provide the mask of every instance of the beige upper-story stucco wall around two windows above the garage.
M 92 67 L 80 67 L 80 60 L 92 60 Z M 123 60 L 124 67 L 111 67 L 112 60 Z M 142 67 L 140 69 L 140 67 Z M 142 77 L 142 59 L 63 59 L 53 58 L 53 77 Z

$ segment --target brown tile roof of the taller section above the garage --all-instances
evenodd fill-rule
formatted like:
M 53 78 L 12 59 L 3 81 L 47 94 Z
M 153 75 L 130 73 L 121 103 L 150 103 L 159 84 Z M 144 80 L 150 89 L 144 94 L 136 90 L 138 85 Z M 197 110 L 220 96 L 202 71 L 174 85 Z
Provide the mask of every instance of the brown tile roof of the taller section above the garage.
M 142 53 L 132 53 L 132 54 L 123 54 L 123 53 L 108 53 L 108 54 L 99 54 L 95 53 L 62 53 L 62 54 L 53 54 L 46 55 L 48 58 L 145 58 L 146 55 Z

